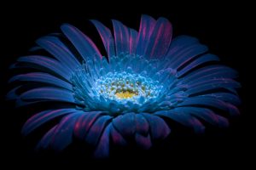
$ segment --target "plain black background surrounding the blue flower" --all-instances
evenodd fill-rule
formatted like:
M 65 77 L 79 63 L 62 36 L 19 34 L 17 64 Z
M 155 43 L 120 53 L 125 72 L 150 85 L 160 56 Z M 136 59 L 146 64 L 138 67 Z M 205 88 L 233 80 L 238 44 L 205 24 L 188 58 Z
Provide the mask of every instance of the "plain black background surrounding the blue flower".
M 117 6 L 114 6 L 117 5 Z M 148 151 L 122 150 L 118 156 L 107 161 L 92 161 L 80 152 L 67 151 L 63 155 L 42 156 L 32 153 L 31 143 L 20 136 L 20 127 L 26 121 L 27 113 L 15 110 L 14 105 L 1 102 L 1 140 L 3 159 L 8 166 L 25 165 L 48 166 L 61 165 L 113 165 L 119 161 L 123 166 L 134 162 L 142 165 L 164 165 L 192 167 L 233 167 L 249 166 L 253 160 L 254 114 L 249 109 L 253 105 L 253 88 L 249 88 L 249 79 L 253 79 L 253 12 L 246 3 L 168 3 L 119 2 L 102 3 L 13 3 L 1 5 L 1 96 L 5 96 L 9 87 L 8 67 L 20 55 L 28 54 L 38 37 L 51 32 L 59 32 L 62 23 L 77 26 L 91 37 L 96 31 L 88 20 L 95 19 L 111 27 L 111 19 L 120 20 L 126 26 L 139 28 L 141 14 L 149 14 L 155 19 L 163 16 L 172 22 L 173 35 L 186 34 L 198 37 L 207 44 L 212 54 L 217 54 L 224 65 L 240 73 L 238 79 L 242 105 L 241 116 L 230 119 L 230 127 L 223 131 L 209 130 L 202 136 L 190 133 L 176 134 L 168 139 L 169 144 L 160 144 Z M 102 9 L 104 8 L 104 9 Z M 100 38 L 96 38 L 99 44 Z M 102 45 L 102 44 L 101 44 Z M 102 46 L 100 46 L 102 50 Z M 255 72 L 255 71 L 254 71 Z M 2 82 L 3 81 L 3 82 Z M 250 94 L 250 95 L 248 95 Z M 168 142 L 166 142 L 168 143 Z M 171 144 L 170 144 L 171 143 Z M 252 156 L 251 156 L 252 154 Z M 207 165 L 205 165 L 206 163 Z M 113 166 L 114 167 L 114 166 Z M 117 166 L 119 167 L 119 166 Z M 122 168 L 122 167 L 119 167 Z M 135 167 L 136 168 L 136 167 Z

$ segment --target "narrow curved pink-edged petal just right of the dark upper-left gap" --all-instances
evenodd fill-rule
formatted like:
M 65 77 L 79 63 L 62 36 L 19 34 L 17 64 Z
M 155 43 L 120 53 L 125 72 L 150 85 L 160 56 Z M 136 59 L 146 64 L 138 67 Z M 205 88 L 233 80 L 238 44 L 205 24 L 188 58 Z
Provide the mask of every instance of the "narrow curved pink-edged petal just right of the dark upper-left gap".
M 111 31 L 97 20 L 90 20 L 90 21 L 94 24 L 94 26 L 96 26 L 97 31 L 102 37 L 102 42 L 108 53 L 108 58 L 113 55 L 116 55 L 114 50 L 113 36 L 111 34 Z

